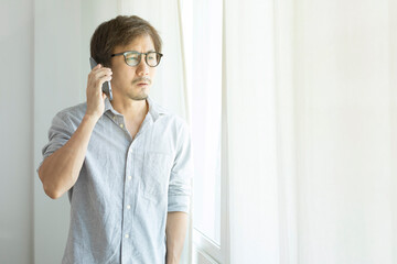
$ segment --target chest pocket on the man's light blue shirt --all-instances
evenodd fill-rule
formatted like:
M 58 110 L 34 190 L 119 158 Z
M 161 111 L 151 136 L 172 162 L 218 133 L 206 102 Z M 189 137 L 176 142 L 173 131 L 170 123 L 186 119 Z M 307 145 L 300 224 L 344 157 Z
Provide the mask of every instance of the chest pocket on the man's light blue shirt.
M 143 196 L 161 201 L 168 194 L 172 157 L 165 153 L 146 152 L 143 156 L 141 191 Z

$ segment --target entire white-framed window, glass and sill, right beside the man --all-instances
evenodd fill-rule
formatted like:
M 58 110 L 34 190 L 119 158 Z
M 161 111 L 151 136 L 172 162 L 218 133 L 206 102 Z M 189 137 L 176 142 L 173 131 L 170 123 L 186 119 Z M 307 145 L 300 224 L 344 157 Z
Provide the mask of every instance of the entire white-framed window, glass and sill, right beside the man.
M 223 136 L 223 1 L 183 1 L 194 154 L 193 240 L 201 256 L 225 263 L 226 172 Z M 189 15 L 189 13 L 191 15 Z M 197 257 L 195 262 L 202 262 Z

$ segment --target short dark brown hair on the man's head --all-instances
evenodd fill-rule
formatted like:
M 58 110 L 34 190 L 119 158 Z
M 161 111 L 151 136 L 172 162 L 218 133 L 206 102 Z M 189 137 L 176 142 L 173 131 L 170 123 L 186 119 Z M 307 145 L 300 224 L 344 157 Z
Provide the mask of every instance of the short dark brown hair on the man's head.
M 155 52 L 161 53 L 161 37 L 148 21 L 137 15 L 118 15 L 95 30 L 90 40 L 90 56 L 98 64 L 109 67 L 110 55 L 116 46 L 128 45 L 133 38 L 142 35 L 149 35 Z

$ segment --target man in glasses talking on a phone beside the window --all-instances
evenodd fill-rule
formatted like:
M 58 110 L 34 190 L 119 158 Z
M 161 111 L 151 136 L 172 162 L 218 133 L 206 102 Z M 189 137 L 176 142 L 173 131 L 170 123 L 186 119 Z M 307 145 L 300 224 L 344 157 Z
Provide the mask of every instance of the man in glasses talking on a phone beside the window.
M 161 38 L 147 21 L 119 15 L 96 29 L 90 55 L 87 101 L 55 116 L 37 169 L 51 198 L 68 191 L 63 263 L 179 263 L 191 143 L 186 123 L 148 97 Z

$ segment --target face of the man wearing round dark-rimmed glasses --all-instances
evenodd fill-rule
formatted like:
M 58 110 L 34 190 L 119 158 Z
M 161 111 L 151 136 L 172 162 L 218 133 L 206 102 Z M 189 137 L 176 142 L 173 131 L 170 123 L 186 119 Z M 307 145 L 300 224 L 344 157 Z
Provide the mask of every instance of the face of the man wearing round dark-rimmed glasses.
M 122 52 L 147 53 L 154 50 L 153 41 L 149 35 L 136 37 L 127 46 L 116 46 L 114 53 Z M 150 67 L 144 61 L 146 55 L 141 55 L 141 61 L 137 66 L 129 66 L 124 56 L 111 58 L 111 88 L 115 99 L 127 97 L 132 100 L 144 100 L 149 95 L 149 89 L 153 84 L 155 67 Z

